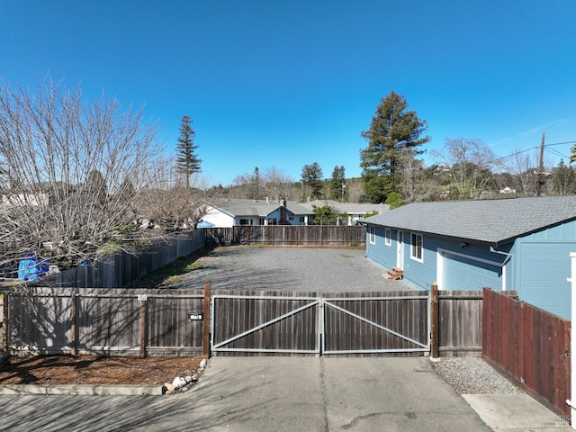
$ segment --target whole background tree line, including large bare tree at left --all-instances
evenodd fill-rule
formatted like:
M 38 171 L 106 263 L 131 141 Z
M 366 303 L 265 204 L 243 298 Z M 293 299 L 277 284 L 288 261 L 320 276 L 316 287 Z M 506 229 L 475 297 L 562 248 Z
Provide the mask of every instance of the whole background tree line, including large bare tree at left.
M 157 123 L 113 98 L 86 101 L 79 88 L 49 79 L 35 90 L 0 80 L 0 268 L 30 253 L 58 268 L 77 266 L 113 250 L 130 249 L 174 230 L 193 228 L 207 202 L 221 198 L 291 201 L 407 202 L 576 193 L 570 165 L 540 169 L 518 150 L 499 158 L 481 139 L 446 139 L 425 166 L 427 122 L 392 92 L 376 107 L 359 152 L 362 175 L 345 166 L 324 177 L 317 162 L 298 180 L 271 166 L 207 184 L 183 115 L 175 154 L 158 144 Z M 506 162 L 506 163 L 504 163 Z M 535 168 L 538 166 L 538 168 Z M 549 165 L 545 165 L 549 166 Z

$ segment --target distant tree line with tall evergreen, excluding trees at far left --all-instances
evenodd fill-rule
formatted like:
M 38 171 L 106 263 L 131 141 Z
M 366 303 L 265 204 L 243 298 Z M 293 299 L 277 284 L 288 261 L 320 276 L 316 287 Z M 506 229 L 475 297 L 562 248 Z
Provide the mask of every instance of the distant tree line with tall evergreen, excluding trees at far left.
M 392 208 L 417 201 L 576 193 L 576 172 L 571 166 L 576 147 L 568 165 L 561 160 L 552 166 L 521 149 L 499 157 L 482 139 L 446 138 L 442 148 L 429 153 L 435 163 L 426 166 L 427 130 L 427 121 L 409 110 L 404 96 L 392 92 L 380 101 L 369 128 L 361 132 L 367 141 L 359 154 L 361 177 L 346 178 L 345 166 L 335 166 L 331 177 L 324 178 L 321 166 L 312 162 L 302 167 L 299 180 L 284 173 L 278 176 L 277 168 L 259 175 L 256 168 L 254 174 L 238 175 L 230 187 L 220 185 L 210 193 L 257 199 L 263 193 L 279 196 L 275 192 L 280 191 L 293 201 L 384 202 Z M 269 184 L 275 184 L 274 191 Z

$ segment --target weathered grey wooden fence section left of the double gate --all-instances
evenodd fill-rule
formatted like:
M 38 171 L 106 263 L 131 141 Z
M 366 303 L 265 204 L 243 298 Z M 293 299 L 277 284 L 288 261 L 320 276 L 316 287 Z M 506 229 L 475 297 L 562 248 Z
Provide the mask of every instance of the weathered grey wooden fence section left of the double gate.
M 206 298 L 209 286 L 165 293 L 54 288 L 7 293 L 5 350 L 13 355 L 206 355 Z

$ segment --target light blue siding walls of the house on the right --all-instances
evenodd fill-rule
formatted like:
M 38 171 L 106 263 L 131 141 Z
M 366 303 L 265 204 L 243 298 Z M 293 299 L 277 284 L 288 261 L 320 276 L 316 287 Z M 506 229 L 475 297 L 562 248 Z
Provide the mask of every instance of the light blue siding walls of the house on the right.
M 392 245 L 384 245 L 384 228 L 376 228 L 376 244 L 366 241 L 366 256 L 386 268 L 396 266 L 397 241 L 396 230 L 392 229 Z M 496 264 L 506 263 L 506 288 L 517 290 L 520 300 L 550 311 L 564 319 L 571 318 L 571 284 L 566 280 L 571 277 L 570 253 L 576 252 L 576 221 L 567 222 L 550 229 L 543 229 L 523 238 L 517 238 L 509 247 L 499 247 L 500 251 L 509 255 L 491 252 L 488 245 L 466 245 L 461 247 L 460 241 L 445 238 L 423 236 L 423 259 L 420 263 L 410 258 L 411 232 L 404 231 L 404 279 L 419 289 L 428 290 L 430 284 L 437 279 L 437 250 L 445 250 L 448 254 L 462 254 L 481 258 Z M 455 260 L 457 261 L 457 260 Z M 466 289 L 470 281 L 478 281 L 482 272 L 486 275 L 486 284 L 493 289 L 501 288 L 499 266 L 478 264 L 477 269 L 470 268 L 466 274 L 466 265 L 472 266 L 474 261 L 460 258 L 463 266 L 457 266 L 458 278 L 462 286 L 446 286 L 450 290 Z M 446 266 L 445 266 L 446 268 Z M 454 267 L 455 268 L 455 267 Z M 501 272 L 501 271 L 500 271 Z M 500 280 L 499 280 L 500 279 Z M 455 283 L 454 283 L 455 284 Z

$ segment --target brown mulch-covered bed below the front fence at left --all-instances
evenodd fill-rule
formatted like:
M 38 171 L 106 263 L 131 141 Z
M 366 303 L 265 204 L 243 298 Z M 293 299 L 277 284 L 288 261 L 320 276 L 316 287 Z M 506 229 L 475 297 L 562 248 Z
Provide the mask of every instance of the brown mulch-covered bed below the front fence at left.
M 172 383 L 193 375 L 200 357 L 23 356 L 7 357 L 0 367 L 4 384 Z

